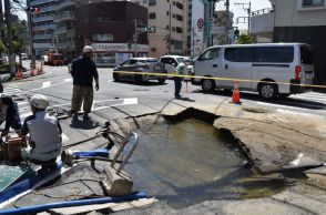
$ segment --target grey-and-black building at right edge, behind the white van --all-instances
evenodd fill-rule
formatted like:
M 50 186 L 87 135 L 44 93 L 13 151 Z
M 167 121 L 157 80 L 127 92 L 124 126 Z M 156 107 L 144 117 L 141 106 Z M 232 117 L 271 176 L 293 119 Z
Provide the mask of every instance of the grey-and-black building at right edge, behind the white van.
M 303 42 L 313 47 L 316 82 L 326 83 L 326 1 L 274 0 L 274 42 Z

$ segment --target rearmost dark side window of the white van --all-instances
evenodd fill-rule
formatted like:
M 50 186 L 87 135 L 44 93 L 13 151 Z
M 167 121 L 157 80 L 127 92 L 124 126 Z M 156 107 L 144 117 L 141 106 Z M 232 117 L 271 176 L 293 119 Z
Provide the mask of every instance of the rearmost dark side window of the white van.
M 291 63 L 294 58 L 293 47 L 257 47 L 255 62 Z M 249 60 L 249 59 L 245 59 Z

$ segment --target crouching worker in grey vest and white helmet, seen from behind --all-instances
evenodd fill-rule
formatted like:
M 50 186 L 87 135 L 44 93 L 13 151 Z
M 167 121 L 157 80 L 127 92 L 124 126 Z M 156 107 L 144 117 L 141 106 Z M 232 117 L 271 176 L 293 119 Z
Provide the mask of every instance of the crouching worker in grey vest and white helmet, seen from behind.
M 55 116 L 50 116 L 45 112 L 49 105 L 47 96 L 35 94 L 29 102 L 33 114 L 24 120 L 21 129 L 26 143 L 21 156 L 26 161 L 42 165 L 42 170 L 54 168 L 62 147 L 61 126 Z

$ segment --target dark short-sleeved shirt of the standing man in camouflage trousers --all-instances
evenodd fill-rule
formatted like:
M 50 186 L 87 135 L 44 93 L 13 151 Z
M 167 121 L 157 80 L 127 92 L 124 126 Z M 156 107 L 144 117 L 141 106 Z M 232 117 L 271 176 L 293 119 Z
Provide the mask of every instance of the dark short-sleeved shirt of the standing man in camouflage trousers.
M 95 63 L 88 58 L 78 58 L 71 64 L 73 85 L 93 88 L 93 79 L 99 78 Z

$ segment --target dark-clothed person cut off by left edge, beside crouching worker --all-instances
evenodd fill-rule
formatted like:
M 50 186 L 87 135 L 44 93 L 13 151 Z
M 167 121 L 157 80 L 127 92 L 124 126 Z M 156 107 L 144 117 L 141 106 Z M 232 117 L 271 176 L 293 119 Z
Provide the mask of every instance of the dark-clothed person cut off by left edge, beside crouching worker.
M 7 136 L 10 127 L 21 130 L 21 122 L 17 103 L 10 95 L 0 94 L 0 125 L 6 121 L 1 136 Z

